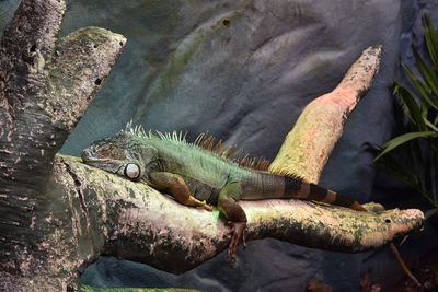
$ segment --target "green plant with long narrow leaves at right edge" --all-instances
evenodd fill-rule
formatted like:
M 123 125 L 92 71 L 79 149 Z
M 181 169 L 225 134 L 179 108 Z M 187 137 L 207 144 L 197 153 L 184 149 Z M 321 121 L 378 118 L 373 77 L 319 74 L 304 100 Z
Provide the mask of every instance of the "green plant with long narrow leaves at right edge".
M 402 135 L 384 143 L 376 161 L 433 206 L 426 212 L 429 218 L 438 213 L 438 34 L 427 15 L 423 30 L 428 56 L 423 58 L 414 48 L 418 73 L 402 63 L 413 90 L 394 82 Z

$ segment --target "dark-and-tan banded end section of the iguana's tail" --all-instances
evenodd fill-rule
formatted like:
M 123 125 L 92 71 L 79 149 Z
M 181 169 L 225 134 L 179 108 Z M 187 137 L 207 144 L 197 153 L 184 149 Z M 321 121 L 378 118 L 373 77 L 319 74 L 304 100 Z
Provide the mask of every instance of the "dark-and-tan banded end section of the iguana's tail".
M 358 201 L 295 177 L 285 176 L 285 198 L 313 200 L 346 207 L 356 211 L 367 211 Z

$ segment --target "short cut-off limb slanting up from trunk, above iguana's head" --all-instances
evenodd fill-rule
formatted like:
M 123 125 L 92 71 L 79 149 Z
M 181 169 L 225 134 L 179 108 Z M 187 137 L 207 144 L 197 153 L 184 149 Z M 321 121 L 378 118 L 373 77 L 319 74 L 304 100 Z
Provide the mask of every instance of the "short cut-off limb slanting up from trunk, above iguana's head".
M 70 132 L 114 66 L 126 38 L 85 27 L 60 39 L 49 66 L 47 103 L 55 120 Z

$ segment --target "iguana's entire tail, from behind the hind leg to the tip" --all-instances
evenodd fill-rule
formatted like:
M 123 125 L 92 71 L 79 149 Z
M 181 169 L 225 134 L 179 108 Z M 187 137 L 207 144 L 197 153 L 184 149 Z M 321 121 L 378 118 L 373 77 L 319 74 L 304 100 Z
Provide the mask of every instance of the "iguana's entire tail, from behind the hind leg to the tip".
M 247 188 L 241 197 L 244 200 L 293 198 L 366 211 L 359 202 L 299 177 L 257 173 L 255 176 L 251 175 L 245 183 L 243 183 L 243 189 L 245 186 Z

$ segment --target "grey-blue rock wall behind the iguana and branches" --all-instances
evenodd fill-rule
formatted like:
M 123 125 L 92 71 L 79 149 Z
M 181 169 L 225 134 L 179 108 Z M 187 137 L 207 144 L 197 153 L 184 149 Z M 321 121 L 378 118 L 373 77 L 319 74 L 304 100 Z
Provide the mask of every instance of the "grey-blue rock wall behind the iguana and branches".
M 18 0 L 0 0 L 0 28 Z M 79 155 L 90 141 L 124 128 L 209 131 L 252 155 L 273 159 L 313 98 L 330 92 L 360 52 L 384 48 L 373 87 L 351 114 L 321 185 L 387 208 L 423 208 L 423 199 L 377 172 L 366 143 L 381 144 L 394 128 L 399 58 L 414 63 L 423 47 L 420 15 L 438 26 L 436 0 L 67 0 L 61 34 L 101 26 L 128 44 L 105 86 L 61 152 Z M 411 236 L 401 250 L 411 265 L 438 246 L 436 226 Z M 177 265 L 177 262 L 175 262 Z M 335 291 L 358 291 L 360 276 L 384 280 L 403 273 L 389 248 L 347 255 L 276 240 L 250 242 L 232 268 L 224 254 L 181 276 L 102 257 L 82 276 L 85 284 L 181 287 L 206 291 L 303 291 L 322 280 Z

